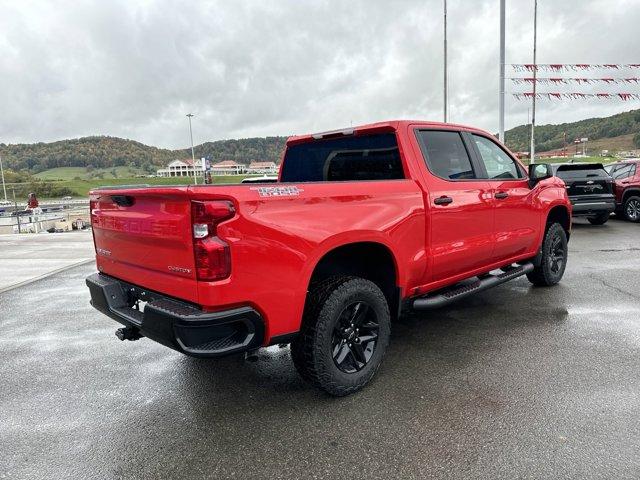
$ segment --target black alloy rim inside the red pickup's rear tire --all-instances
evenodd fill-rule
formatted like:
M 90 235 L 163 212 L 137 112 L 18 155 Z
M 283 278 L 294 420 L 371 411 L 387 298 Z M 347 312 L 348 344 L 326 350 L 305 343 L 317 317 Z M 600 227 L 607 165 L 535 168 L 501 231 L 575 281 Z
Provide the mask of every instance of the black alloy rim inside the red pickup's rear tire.
M 346 306 L 331 338 L 336 367 L 344 373 L 362 370 L 373 356 L 379 328 L 375 310 L 369 304 L 357 301 Z

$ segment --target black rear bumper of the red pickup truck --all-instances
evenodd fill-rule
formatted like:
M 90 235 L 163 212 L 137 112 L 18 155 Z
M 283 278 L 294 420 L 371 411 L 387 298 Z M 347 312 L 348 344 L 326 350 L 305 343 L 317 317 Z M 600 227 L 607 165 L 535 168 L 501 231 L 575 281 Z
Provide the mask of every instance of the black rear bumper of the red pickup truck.
M 219 357 L 260 347 L 264 322 L 251 307 L 204 312 L 196 306 L 101 273 L 86 280 L 91 305 L 162 345 L 195 357 Z M 136 305 L 142 302 L 144 308 Z

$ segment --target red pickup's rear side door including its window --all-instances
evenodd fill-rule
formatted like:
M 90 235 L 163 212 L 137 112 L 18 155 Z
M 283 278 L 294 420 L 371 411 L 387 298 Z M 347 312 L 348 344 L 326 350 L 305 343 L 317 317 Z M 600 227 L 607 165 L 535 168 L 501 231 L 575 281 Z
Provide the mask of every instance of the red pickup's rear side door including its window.
M 424 159 L 429 212 L 428 282 L 446 281 L 489 263 L 493 250 L 490 186 L 457 130 L 416 129 Z

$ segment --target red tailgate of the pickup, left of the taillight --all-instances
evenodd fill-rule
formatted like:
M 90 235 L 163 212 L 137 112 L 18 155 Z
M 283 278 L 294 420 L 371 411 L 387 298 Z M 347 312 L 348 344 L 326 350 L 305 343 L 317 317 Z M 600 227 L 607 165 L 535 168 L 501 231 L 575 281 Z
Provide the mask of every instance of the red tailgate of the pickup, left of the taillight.
M 99 271 L 198 301 L 188 187 L 97 190 L 91 224 Z

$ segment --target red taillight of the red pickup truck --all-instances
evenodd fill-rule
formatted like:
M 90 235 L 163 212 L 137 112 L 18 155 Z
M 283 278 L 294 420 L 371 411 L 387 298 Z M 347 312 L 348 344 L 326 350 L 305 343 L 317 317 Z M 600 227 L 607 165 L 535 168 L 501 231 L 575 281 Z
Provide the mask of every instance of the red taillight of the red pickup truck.
M 198 280 L 222 280 L 231 274 L 229 244 L 217 236 L 217 226 L 235 215 L 227 200 L 191 202 L 193 254 Z

